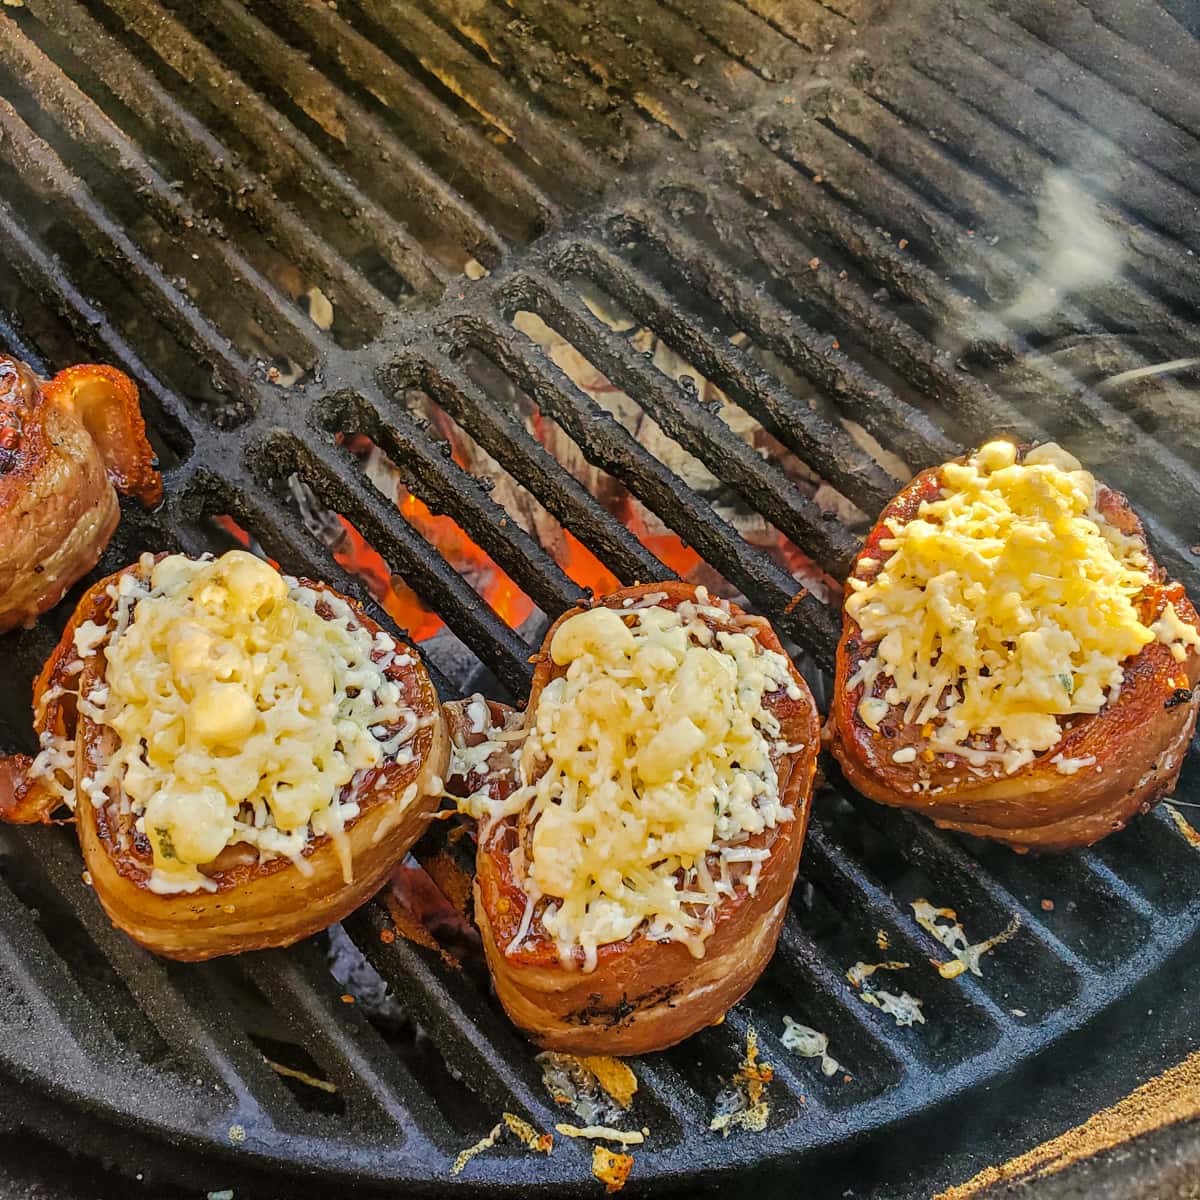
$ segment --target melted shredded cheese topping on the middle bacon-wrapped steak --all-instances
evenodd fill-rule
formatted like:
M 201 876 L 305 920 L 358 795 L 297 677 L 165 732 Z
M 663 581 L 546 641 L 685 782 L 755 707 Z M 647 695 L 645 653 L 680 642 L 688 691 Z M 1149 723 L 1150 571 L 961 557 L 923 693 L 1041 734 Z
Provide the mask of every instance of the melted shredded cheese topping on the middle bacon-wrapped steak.
M 698 601 L 593 608 L 554 634 L 566 671 L 541 692 L 522 786 L 503 808 L 527 830 L 512 857 L 528 899 L 509 953 L 547 898 L 541 923 L 564 964 L 582 948 L 592 970 L 598 947 L 643 926 L 701 956 L 722 898 L 739 881 L 754 892 L 769 852 L 744 844 L 792 818 L 763 701 L 800 692 L 752 625 Z

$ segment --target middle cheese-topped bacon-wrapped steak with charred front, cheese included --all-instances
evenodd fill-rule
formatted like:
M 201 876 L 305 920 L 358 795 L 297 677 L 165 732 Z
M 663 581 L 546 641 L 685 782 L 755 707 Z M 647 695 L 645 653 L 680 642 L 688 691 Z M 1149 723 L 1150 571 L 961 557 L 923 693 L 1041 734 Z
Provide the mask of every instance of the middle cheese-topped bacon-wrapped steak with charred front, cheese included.
M 512 1020 L 617 1055 L 720 1020 L 774 950 L 816 769 L 816 708 L 767 622 L 626 588 L 551 628 L 523 739 L 476 708 L 450 721 L 450 790 L 482 816 L 475 918 Z

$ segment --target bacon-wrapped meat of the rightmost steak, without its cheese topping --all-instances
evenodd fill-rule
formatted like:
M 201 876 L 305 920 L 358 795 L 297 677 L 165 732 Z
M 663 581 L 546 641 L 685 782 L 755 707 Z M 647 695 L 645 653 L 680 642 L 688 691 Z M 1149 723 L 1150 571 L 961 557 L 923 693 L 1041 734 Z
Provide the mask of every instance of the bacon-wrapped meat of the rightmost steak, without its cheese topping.
M 853 578 L 870 580 L 881 569 L 889 556 L 880 541 L 892 536 L 884 522 L 911 521 L 922 502 L 936 499 L 940 480 L 940 467 L 924 470 L 888 504 L 863 545 Z M 1151 563 L 1152 582 L 1138 601 L 1141 622 L 1152 624 L 1166 604 L 1174 602 L 1182 620 L 1200 628 L 1183 586 L 1166 582 L 1153 562 L 1129 502 L 1100 485 L 1097 508 L 1140 542 Z M 989 779 L 978 778 L 961 761 L 947 767 L 942 756 L 931 764 L 924 763 L 919 752 L 912 763 L 893 761 L 896 750 L 908 745 L 919 750 L 923 743 L 920 730 L 906 725 L 898 708 L 880 721 L 877 732 L 859 716 L 864 686 L 850 688 L 847 680 L 874 649 L 874 643 L 863 641 L 858 622 L 844 616 L 827 722 L 829 748 L 846 779 L 872 800 L 923 812 L 943 829 L 991 838 L 1014 850 L 1057 851 L 1090 846 L 1123 829 L 1175 788 L 1200 708 L 1200 654 L 1195 649 L 1189 648 L 1177 662 L 1170 647 L 1150 642 L 1124 664 L 1116 702 L 1096 715 L 1060 719 L 1062 737 L 1051 749 L 1010 775 Z M 1063 774 L 1051 761 L 1060 757 L 1094 762 Z

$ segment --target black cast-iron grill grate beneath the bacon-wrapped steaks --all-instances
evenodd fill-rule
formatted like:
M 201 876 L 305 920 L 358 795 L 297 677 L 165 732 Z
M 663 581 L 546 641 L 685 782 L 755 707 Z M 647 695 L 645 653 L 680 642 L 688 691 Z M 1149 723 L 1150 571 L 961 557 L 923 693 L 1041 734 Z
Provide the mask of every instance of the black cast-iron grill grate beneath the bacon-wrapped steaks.
M 1198 37 L 1183 0 L 24 0 L 0 16 L 0 349 L 43 373 L 110 361 L 142 388 L 167 498 L 126 508 L 100 571 L 220 550 L 232 518 L 394 624 L 313 535 L 307 497 L 445 623 L 421 649 L 448 697 L 480 680 L 520 696 L 541 618 L 583 594 L 490 494 L 502 473 L 620 582 L 670 576 L 576 468 L 614 481 L 774 622 L 815 683 L 836 638 L 820 588 L 575 386 L 518 313 L 833 576 L 856 544 L 836 512 L 874 516 L 898 461 L 1012 433 L 1055 437 L 1127 491 L 1200 594 L 1188 376 L 1136 374 L 1196 346 Z M 1079 230 L 1103 270 L 1060 253 Z M 728 404 L 599 320 L 598 293 Z M 731 408 L 779 454 L 748 445 Z M 570 469 L 533 410 L 574 443 Z M 456 461 L 448 428 L 494 470 Z M 532 601 L 520 631 L 346 434 Z M 785 457 L 848 504 L 793 486 Z M 68 607 L 6 638 L 10 748 L 29 744 L 29 683 Z M 1180 799 L 1200 802 L 1198 784 L 1189 763 Z M 320 938 L 168 964 L 109 928 L 67 832 L 4 830 L 0 848 L 0 1066 L 30 1124 L 193 1187 L 598 1190 L 568 1139 L 449 1177 L 502 1110 L 539 1128 L 560 1114 L 486 984 L 380 940 L 380 905 L 346 934 L 386 983 L 386 1020 L 344 1002 Z M 724 1025 L 635 1063 L 650 1134 L 630 1188 L 754 1170 L 917 1195 L 1003 1157 L 1079 1096 L 973 1124 L 966 1145 L 930 1130 L 949 1102 L 995 1111 L 1030 1078 L 1061 1096 L 1046 1080 L 1086 1052 L 1073 1031 L 1123 1022 L 1085 1108 L 1168 1052 L 1134 1006 L 1186 998 L 1163 980 L 1194 953 L 1198 884 L 1200 854 L 1163 810 L 1091 851 L 1025 859 L 832 776 L 764 979 Z M 1014 914 L 1020 934 L 982 978 L 941 980 L 919 895 L 976 936 Z M 914 964 L 924 1026 L 898 1028 L 846 982 L 877 930 Z M 784 1050 L 785 1013 L 827 1032 L 851 1078 Z M 722 1140 L 708 1121 L 750 1026 L 775 1066 L 773 1116 Z M 336 1092 L 289 1087 L 268 1064 L 281 1055 Z M 852 1169 L 869 1147 L 904 1169 Z

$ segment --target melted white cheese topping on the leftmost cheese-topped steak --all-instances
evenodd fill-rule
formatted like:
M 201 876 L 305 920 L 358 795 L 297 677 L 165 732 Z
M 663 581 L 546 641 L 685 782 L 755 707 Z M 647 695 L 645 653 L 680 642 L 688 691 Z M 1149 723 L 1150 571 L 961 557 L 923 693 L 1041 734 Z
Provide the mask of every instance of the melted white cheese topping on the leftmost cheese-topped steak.
M 391 638 L 244 551 L 170 556 L 149 584 L 122 576 L 115 599 L 104 685 L 79 706 L 118 745 L 82 788 L 97 805 L 119 792 L 137 816 L 151 890 L 211 889 L 198 868 L 239 842 L 307 870 L 320 834 L 349 882 L 344 827 L 359 808 L 342 790 L 389 755 L 403 761 L 418 727 L 384 674 L 402 661 Z M 76 643 L 94 653 L 100 640 L 80 626 Z

